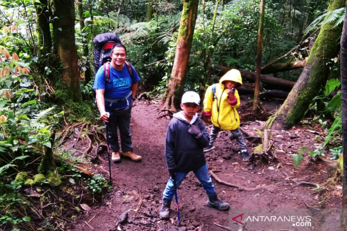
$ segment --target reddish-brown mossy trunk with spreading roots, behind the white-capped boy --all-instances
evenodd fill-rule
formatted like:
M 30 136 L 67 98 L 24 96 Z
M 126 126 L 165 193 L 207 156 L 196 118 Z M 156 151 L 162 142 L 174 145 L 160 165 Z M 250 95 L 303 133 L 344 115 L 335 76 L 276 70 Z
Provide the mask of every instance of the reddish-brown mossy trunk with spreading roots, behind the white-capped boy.
M 179 107 L 180 97 L 184 86 L 184 77 L 187 72 L 189 54 L 192 48 L 193 34 L 199 1 L 186 0 L 183 3 L 181 22 L 178 30 L 176 54 L 171 71 L 171 81 L 164 93 L 161 103 L 163 108 L 176 111 Z

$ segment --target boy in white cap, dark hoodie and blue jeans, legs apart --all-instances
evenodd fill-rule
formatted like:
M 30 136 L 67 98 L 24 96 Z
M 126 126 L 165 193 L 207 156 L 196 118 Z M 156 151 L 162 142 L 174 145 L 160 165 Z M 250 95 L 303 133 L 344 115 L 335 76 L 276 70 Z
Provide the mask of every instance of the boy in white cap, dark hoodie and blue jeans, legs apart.
M 229 209 L 228 203 L 218 200 L 209 176 L 203 148 L 209 144 L 210 138 L 204 123 L 197 117 L 199 105 L 200 96 L 194 91 L 187 91 L 181 100 L 183 111 L 174 114 L 168 125 L 165 159 L 170 178 L 163 192 L 160 219 L 169 218 L 175 190 L 190 171 L 194 172 L 209 196 L 207 206 L 221 211 Z

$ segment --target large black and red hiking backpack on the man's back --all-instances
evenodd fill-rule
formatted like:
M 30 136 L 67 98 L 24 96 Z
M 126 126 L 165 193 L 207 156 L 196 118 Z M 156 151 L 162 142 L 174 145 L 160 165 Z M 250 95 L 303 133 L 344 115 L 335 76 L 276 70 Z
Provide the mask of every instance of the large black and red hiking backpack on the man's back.
M 110 81 L 110 62 L 111 62 L 111 48 L 114 44 L 121 43 L 117 34 L 103 33 L 95 36 L 94 44 L 94 71 L 98 72 L 100 66 L 104 64 L 104 76 L 106 82 Z M 133 76 L 133 69 L 128 61 L 125 61 L 130 77 Z

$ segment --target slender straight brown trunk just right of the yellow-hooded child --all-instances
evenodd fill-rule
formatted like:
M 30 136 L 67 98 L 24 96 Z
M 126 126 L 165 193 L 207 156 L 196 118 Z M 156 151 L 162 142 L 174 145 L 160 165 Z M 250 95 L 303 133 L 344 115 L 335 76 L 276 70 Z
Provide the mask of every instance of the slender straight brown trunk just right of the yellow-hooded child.
M 255 73 L 255 86 L 253 96 L 252 111 L 255 112 L 259 107 L 259 92 L 260 92 L 260 71 L 261 71 L 261 56 L 263 52 L 263 22 L 264 22 L 264 1 L 260 1 L 260 17 L 258 29 L 258 44 L 257 44 L 257 66 Z

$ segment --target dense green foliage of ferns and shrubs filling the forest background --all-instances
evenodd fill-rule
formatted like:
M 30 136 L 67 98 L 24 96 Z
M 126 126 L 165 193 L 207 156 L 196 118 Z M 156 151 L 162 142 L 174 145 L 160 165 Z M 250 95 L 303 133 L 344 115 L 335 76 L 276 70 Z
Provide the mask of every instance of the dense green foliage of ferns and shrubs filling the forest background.
M 259 0 L 222 1 L 217 6 L 215 23 L 213 23 L 215 2 L 200 2 L 192 51 L 187 64 L 189 69 L 185 79 L 185 89 L 203 92 L 207 85 L 217 81 L 219 72 L 214 70 L 215 64 L 240 70 L 255 70 L 259 2 Z M 91 121 L 91 124 L 95 124 L 94 119 L 98 116 L 93 100 L 93 78 L 89 82 L 84 79 L 87 70 L 92 72 L 92 76 L 94 75 L 92 39 L 95 35 L 115 32 L 120 36 L 128 48 L 128 61 L 135 66 L 141 76 L 142 91 L 151 92 L 154 97 L 161 97 L 170 80 L 183 4 L 181 1 L 83 0 L 82 3 L 81 13 L 85 25 L 81 28 L 78 20 L 75 25 L 82 101 L 76 103 L 69 98 L 69 92 L 61 80 L 62 65 L 57 57 L 56 44 L 53 42 L 50 44 L 50 50 L 45 50 L 38 42 L 40 28 L 37 25 L 36 10 L 43 9 L 44 1 L 1 1 L 0 227 L 2 228 L 8 225 L 15 229 L 20 223 L 30 221 L 28 216 L 22 216 L 10 207 L 23 203 L 23 198 L 19 195 L 20 188 L 34 184 L 35 179 L 33 174 L 26 177 L 25 181 L 24 178 L 15 180 L 15 177 L 22 170 L 33 170 L 37 167 L 32 165 L 36 158 L 40 158 L 37 153 L 54 148 L 50 142 L 53 130 L 59 130 L 85 118 Z M 50 4 L 52 3 L 48 2 L 46 13 L 50 16 L 49 23 L 52 29 L 51 23 L 59 18 L 53 17 L 53 8 Z M 152 18 L 148 21 L 145 17 L 147 6 L 153 10 Z M 327 14 L 327 6 L 328 1 L 324 0 L 266 1 L 262 64 L 265 65 L 282 56 L 297 45 L 314 41 L 313 32 L 320 25 L 331 21 L 336 25 L 341 24 L 345 9 L 341 8 Z M 54 37 L 53 30 L 51 37 Z M 308 45 L 303 45 L 280 62 L 303 60 L 309 52 Z M 337 74 L 339 57 L 327 62 L 331 64 L 331 80 L 325 89 L 322 88 L 310 112 L 313 111 L 315 114 L 314 122 L 320 123 L 327 129 L 328 135 L 324 145 L 329 145 L 330 142 L 332 152 L 338 157 L 340 141 L 335 141 L 333 137 L 341 131 L 341 92 Z M 278 73 L 276 76 L 295 81 L 299 72 L 294 70 Z M 319 109 L 319 105 L 323 105 L 323 108 Z M 331 126 L 328 126 L 327 118 L 332 121 Z M 322 147 L 313 151 L 313 154 L 318 155 L 321 150 Z M 62 160 L 68 156 L 68 153 L 61 153 Z M 302 160 L 299 153 L 294 160 L 297 166 Z M 102 177 L 83 178 L 69 165 L 54 168 L 53 172 L 58 175 L 67 169 L 73 171 L 69 184 L 81 179 L 86 182 L 84 190 L 91 190 L 93 193 L 100 193 L 107 187 Z M 48 178 L 40 181 L 39 185 L 49 185 Z M 52 227 L 46 226 L 47 230 L 50 228 Z

